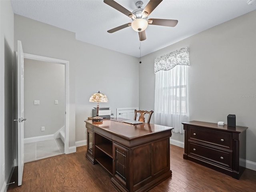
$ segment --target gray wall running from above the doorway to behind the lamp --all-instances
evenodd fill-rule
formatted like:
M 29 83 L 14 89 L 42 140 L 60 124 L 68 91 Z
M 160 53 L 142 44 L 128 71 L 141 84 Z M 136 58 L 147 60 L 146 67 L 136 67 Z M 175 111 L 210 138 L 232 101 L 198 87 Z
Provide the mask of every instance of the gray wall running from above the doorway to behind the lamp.
M 21 40 L 25 53 L 69 61 L 70 102 L 75 127 L 70 127 L 69 146 L 86 139 L 85 122 L 96 103 L 89 98 L 98 91 L 106 94 L 108 106 L 139 105 L 138 58 L 75 40 L 75 34 L 14 14 L 14 42 Z M 16 46 L 14 47 L 17 48 Z

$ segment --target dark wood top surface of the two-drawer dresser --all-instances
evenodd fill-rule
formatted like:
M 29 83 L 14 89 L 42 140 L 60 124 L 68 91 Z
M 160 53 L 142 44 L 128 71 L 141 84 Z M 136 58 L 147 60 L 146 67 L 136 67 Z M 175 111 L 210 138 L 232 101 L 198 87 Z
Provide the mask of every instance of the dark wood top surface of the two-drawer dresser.
M 204 128 L 218 129 L 218 130 L 225 130 L 228 132 L 238 132 L 238 133 L 248 129 L 248 127 L 242 127 L 242 126 L 231 127 L 227 125 L 218 125 L 217 123 L 208 123 L 208 122 L 202 122 L 202 121 L 189 121 L 189 122 L 183 122 L 182 124 L 194 125 L 197 127 L 204 127 Z

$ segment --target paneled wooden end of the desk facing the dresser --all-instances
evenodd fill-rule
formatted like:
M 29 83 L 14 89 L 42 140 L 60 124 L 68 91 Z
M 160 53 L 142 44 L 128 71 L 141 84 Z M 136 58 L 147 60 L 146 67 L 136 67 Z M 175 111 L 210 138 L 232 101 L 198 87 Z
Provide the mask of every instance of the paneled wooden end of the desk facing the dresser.
M 172 176 L 169 143 L 165 138 L 132 150 L 132 191 L 144 192 Z

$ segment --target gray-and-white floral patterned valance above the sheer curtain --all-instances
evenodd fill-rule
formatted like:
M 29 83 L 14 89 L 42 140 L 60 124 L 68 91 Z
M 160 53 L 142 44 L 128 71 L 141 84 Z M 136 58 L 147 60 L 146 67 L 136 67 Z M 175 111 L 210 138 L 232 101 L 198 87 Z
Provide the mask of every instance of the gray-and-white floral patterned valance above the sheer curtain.
M 188 47 L 170 52 L 155 59 L 155 73 L 164 70 L 168 71 L 176 65 L 190 65 Z

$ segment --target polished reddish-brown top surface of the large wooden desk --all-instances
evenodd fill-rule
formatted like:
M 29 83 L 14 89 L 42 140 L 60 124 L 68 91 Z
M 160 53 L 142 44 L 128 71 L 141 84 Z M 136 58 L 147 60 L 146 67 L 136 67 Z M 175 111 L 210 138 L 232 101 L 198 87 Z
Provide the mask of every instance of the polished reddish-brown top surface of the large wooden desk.
M 170 132 L 172 127 L 150 124 L 150 123 L 142 123 L 137 125 L 131 125 L 122 122 L 122 120 L 126 120 L 124 118 L 110 118 L 103 119 L 102 122 L 92 122 L 92 120 L 86 120 L 85 122 L 88 124 L 92 124 L 93 126 L 100 127 L 107 132 L 111 132 L 112 134 L 116 134 L 128 139 L 138 138 L 140 136 L 146 136 L 149 134 L 157 134 L 159 132 Z

